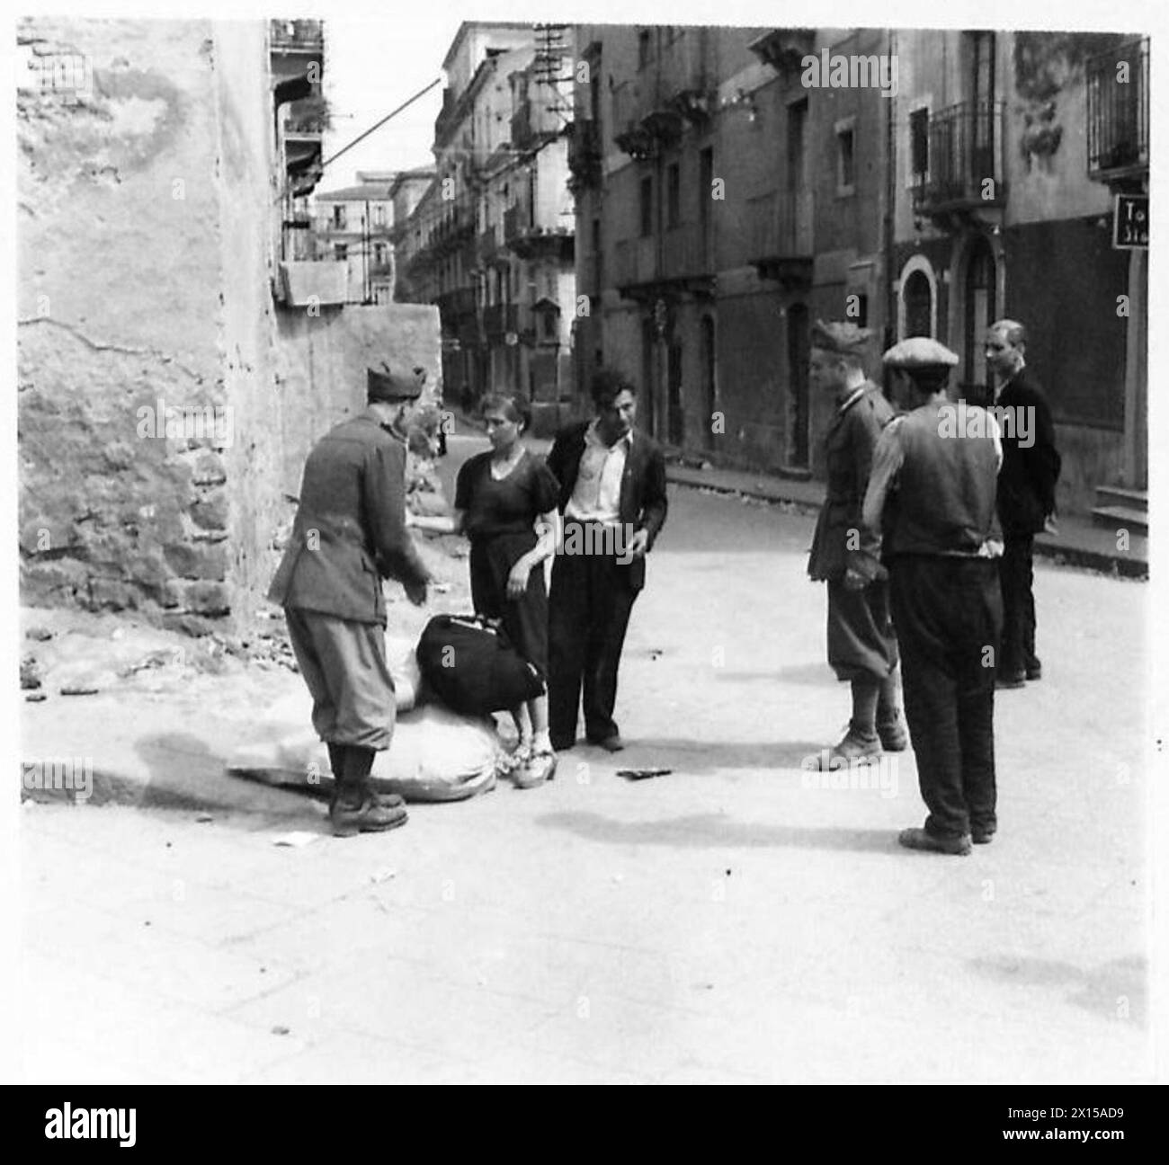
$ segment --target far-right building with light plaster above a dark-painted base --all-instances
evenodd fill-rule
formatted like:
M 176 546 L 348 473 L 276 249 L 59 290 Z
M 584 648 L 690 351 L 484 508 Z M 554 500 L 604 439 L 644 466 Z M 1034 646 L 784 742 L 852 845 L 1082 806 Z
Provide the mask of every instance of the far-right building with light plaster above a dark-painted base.
M 1113 247 L 1113 194 L 1148 192 L 1147 41 L 891 36 L 902 78 L 890 270 L 898 335 L 945 341 L 961 358 L 961 390 L 987 400 L 985 326 L 1022 321 L 1056 417 L 1060 508 L 1087 512 L 1098 488 L 1107 504 L 1118 500 L 1107 487 L 1123 486 L 1134 491 L 1126 504 L 1143 509 L 1147 252 Z

